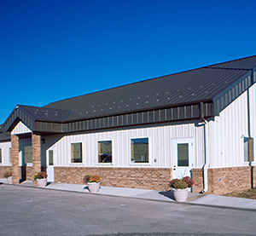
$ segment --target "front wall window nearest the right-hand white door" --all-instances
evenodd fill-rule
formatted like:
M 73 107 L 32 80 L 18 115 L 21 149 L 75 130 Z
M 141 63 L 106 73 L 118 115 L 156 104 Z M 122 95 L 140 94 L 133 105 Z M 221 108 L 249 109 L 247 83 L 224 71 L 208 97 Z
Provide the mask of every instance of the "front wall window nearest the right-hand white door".
M 148 138 L 131 139 L 131 163 L 148 163 Z

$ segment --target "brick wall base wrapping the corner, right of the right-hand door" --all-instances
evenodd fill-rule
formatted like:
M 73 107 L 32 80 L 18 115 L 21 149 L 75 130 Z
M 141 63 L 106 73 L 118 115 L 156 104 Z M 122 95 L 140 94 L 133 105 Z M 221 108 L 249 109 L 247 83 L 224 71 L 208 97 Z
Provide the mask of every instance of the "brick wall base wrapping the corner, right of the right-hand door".
M 209 168 L 207 193 L 224 194 L 251 188 L 251 170 L 250 166 Z M 203 189 L 203 170 L 193 169 L 192 178 L 195 181 L 193 193 L 200 193 Z M 256 187 L 256 166 L 253 167 L 253 187 Z

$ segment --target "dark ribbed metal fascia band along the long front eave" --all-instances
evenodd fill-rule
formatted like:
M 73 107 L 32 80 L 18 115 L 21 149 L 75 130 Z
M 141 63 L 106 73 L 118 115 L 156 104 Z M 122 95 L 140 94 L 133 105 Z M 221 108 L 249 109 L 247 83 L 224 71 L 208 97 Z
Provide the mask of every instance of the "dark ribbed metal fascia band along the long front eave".
M 203 102 L 204 117 L 213 116 L 213 102 Z M 73 132 L 88 132 L 92 130 L 108 130 L 119 127 L 126 128 L 135 125 L 162 124 L 200 118 L 200 102 L 187 106 L 172 106 L 150 111 L 136 111 L 123 114 L 109 114 L 107 117 L 86 118 L 65 123 L 37 121 L 35 130 L 38 133 L 67 134 Z

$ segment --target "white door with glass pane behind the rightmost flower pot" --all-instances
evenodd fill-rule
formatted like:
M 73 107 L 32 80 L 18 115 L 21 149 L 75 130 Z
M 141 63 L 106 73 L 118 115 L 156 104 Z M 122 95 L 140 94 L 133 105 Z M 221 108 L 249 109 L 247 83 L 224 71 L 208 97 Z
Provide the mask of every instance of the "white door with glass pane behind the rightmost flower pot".
M 190 170 L 193 168 L 194 139 L 172 140 L 172 178 L 191 177 Z

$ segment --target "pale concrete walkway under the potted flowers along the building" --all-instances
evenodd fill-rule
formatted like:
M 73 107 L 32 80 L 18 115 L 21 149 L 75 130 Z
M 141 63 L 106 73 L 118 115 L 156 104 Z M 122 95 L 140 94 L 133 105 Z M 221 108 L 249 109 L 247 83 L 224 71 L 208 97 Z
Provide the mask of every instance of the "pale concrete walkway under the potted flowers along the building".
M 0 179 L 0 182 L 7 183 L 6 179 Z M 25 181 L 20 183 L 20 186 L 32 187 L 32 181 Z M 173 198 L 172 192 L 156 191 L 137 188 L 126 187 L 100 187 L 99 193 L 90 193 L 86 185 L 79 184 L 66 184 L 52 182 L 44 187 L 45 189 L 53 189 L 60 191 L 71 191 L 87 194 L 99 194 L 105 196 L 117 196 L 125 198 L 148 199 L 156 201 L 165 201 L 177 203 Z M 254 199 L 241 199 L 233 197 L 224 197 L 213 194 L 189 193 L 188 199 L 184 203 L 177 204 L 196 204 L 212 207 L 235 208 L 241 210 L 256 211 L 256 200 Z

